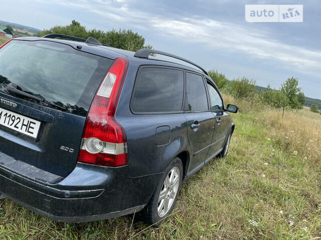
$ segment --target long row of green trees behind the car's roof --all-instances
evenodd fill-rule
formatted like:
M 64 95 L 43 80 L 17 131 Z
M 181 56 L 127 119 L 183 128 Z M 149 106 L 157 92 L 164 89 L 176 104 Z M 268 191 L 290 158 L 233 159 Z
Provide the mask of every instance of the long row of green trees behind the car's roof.
M 91 36 L 103 44 L 131 51 L 137 51 L 144 47 L 152 48 L 150 45 L 144 45 L 145 38 L 142 35 L 139 35 L 137 32 L 133 32 L 130 29 L 112 29 L 109 31 L 103 31 L 95 28 L 87 30 L 85 26 L 82 26 L 80 22 L 76 20 L 72 20 L 71 24 L 66 26 L 54 26 L 50 29 L 44 29 L 38 34 L 38 36 L 44 36 L 50 33 L 60 33 L 85 39 Z

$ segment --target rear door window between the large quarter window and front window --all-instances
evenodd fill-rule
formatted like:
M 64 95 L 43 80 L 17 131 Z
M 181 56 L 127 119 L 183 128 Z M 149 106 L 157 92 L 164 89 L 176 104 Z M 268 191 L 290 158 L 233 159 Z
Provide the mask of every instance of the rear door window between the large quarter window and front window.
M 186 92 L 189 111 L 208 110 L 206 90 L 201 75 L 186 73 Z

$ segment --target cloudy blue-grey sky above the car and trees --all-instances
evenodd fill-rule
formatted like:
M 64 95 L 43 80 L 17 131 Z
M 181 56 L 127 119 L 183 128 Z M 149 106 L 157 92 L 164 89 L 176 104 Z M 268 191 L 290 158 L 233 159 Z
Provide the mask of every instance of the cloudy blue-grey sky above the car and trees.
M 246 76 L 278 89 L 288 77 L 321 99 L 321 1 L 303 4 L 303 22 L 247 22 L 245 4 L 267 0 L 2 0 L 0 20 L 39 29 L 76 19 L 88 29 L 132 29 L 145 43 L 229 79 Z

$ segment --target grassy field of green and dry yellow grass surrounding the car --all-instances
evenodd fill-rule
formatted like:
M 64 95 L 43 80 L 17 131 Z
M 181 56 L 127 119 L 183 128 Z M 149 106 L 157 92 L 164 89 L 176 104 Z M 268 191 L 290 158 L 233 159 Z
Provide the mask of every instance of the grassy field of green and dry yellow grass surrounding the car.
M 235 101 L 226 158 L 182 185 L 169 220 L 61 223 L 0 200 L 0 239 L 321 239 L 321 115 Z

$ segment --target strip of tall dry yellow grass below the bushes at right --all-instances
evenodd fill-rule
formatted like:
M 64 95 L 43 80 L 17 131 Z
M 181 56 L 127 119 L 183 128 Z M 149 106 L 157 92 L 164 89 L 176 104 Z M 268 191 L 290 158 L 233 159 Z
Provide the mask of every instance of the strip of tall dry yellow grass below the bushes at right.
M 256 120 L 269 129 L 272 142 L 294 155 L 321 160 L 321 115 L 303 108 L 276 109 L 257 99 L 235 99 L 223 94 L 224 102 L 239 105 L 239 111 L 256 112 Z M 257 101 L 256 101 L 257 100 Z

